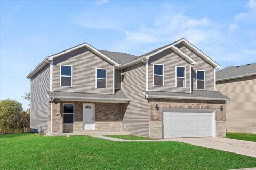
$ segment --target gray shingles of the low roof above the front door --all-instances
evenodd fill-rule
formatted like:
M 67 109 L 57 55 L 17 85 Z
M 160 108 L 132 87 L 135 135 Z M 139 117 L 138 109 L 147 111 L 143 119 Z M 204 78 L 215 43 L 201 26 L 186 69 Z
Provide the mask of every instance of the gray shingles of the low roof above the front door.
M 129 97 L 125 95 L 123 90 L 115 89 L 115 94 L 94 94 L 87 92 L 63 92 L 63 91 L 47 91 L 49 98 L 63 97 L 63 98 L 106 98 L 106 99 L 127 99 Z

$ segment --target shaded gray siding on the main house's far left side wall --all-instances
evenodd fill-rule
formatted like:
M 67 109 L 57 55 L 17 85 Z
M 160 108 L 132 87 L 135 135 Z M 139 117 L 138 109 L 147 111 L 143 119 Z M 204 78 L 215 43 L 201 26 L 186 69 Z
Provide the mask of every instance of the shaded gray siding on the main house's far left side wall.
M 47 90 L 50 90 L 50 64 L 31 78 L 30 129 L 47 133 L 48 103 Z

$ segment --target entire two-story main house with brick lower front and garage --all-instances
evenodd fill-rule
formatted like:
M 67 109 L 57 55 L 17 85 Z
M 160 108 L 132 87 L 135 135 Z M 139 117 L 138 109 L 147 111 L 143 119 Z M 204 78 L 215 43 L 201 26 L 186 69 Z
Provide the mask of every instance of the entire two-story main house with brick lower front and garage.
M 225 136 L 220 65 L 186 39 L 141 56 L 87 43 L 46 57 L 31 79 L 31 131 L 127 131 L 151 138 Z

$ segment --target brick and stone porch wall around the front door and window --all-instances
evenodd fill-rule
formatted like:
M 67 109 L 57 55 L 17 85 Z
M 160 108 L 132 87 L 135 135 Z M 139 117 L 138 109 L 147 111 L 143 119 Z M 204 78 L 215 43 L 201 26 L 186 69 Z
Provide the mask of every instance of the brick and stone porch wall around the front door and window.
M 63 124 L 63 103 L 75 106 L 74 124 Z M 90 103 L 90 102 L 86 102 Z M 95 104 L 95 131 L 122 131 L 122 108 L 120 103 Z M 83 130 L 83 102 L 54 100 L 53 133 L 79 132 Z M 49 102 L 48 132 L 51 132 L 51 103 Z

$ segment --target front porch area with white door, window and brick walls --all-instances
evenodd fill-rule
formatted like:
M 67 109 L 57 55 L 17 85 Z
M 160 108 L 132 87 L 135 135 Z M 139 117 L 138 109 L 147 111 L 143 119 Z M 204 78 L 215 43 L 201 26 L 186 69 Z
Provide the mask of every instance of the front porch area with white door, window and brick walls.
M 60 99 L 49 102 L 47 134 L 95 132 L 122 132 L 121 103 L 61 101 Z

